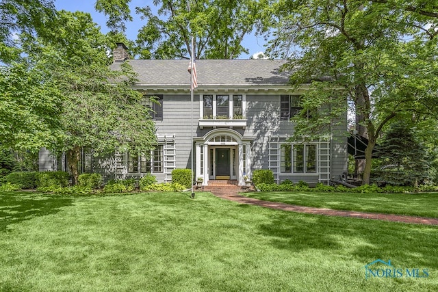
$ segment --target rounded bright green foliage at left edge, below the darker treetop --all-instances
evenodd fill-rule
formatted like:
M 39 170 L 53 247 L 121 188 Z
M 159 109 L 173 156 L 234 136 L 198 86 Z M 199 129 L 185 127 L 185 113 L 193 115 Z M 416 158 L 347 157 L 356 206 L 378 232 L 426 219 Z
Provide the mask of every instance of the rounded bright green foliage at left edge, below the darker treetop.
M 26 62 L 0 66 L 2 146 L 36 152 L 51 145 L 59 137 L 61 101 L 57 85 L 40 68 Z

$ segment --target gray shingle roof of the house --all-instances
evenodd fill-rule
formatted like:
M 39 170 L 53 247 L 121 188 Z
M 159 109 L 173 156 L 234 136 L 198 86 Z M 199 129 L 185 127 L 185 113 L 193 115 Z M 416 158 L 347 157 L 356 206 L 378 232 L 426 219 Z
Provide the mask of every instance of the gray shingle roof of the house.
M 198 86 L 285 85 L 289 75 L 280 72 L 285 62 L 266 59 L 198 59 Z M 111 67 L 117 70 L 120 64 L 116 62 Z M 190 60 L 142 59 L 130 60 L 129 64 L 138 73 L 138 85 L 167 87 L 190 84 Z

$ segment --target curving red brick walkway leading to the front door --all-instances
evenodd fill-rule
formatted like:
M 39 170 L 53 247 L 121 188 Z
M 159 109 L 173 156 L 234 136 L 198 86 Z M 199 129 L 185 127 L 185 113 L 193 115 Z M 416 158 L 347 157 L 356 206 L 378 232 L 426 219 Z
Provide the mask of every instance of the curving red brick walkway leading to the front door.
M 407 215 L 392 215 L 383 213 L 364 213 L 357 211 L 342 211 L 333 209 L 323 209 L 315 207 L 304 207 L 297 206 L 293 204 L 284 204 L 280 202 L 267 202 L 263 200 L 257 200 L 255 198 L 247 198 L 240 195 L 242 188 L 237 185 L 227 185 L 221 187 L 205 187 L 205 191 L 211 191 L 214 196 L 225 200 L 231 200 L 234 202 L 239 202 L 240 204 L 253 204 L 255 206 L 266 207 L 271 209 L 278 209 L 283 211 L 292 211 L 298 213 L 309 213 L 315 215 L 326 215 L 326 216 L 341 216 L 341 217 L 355 217 L 361 219 L 372 219 L 372 220 L 385 220 L 391 222 L 403 222 L 410 224 L 426 224 L 426 225 L 438 225 L 438 218 L 428 218 L 428 217 L 413 217 Z

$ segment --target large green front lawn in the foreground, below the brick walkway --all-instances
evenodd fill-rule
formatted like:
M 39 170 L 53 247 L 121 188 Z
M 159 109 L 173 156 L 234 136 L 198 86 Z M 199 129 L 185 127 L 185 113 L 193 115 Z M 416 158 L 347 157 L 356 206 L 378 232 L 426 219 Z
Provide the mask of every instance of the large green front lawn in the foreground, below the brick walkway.
M 437 291 L 438 227 L 207 192 L 0 194 L 0 291 Z M 428 278 L 368 278 L 376 259 Z

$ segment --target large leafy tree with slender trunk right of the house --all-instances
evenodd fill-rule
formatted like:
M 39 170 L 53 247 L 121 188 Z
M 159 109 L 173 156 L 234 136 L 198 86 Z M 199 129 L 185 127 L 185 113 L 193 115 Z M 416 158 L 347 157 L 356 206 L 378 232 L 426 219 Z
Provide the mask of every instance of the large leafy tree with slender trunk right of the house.
M 327 131 L 350 103 L 359 133 L 368 137 L 364 184 L 386 124 L 397 116 L 437 114 L 438 2 L 418 2 L 292 0 L 274 6 L 270 53 L 291 59 L 285 70 L 292 70 L 293 85 L 309 84 L 302 112 L 312 112 L 311 122 L 298 116 L 295 135 Z

